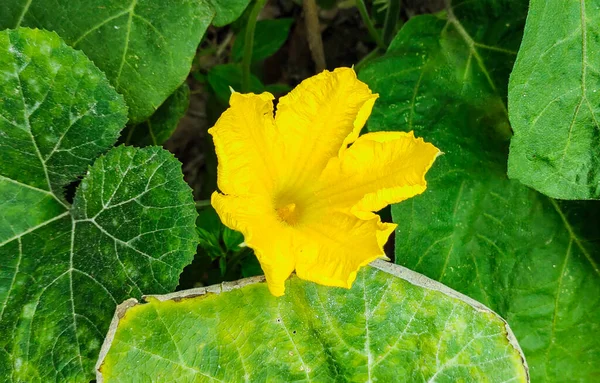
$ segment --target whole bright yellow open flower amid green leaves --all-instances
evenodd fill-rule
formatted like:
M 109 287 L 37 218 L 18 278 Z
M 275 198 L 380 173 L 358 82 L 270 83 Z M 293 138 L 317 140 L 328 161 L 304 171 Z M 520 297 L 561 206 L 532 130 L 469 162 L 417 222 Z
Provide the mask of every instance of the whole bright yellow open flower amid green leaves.
M 373 212 L 425 190 L 436 147 L 412 132 L 359 137 L 377 97 L 338 68 L 303 81 L 275 116 L 270 93 L 233 93 L 209 130 L 221 191 L 212 205 L 244 234 L 273 295 L 294 270 L 350 288 L 396 228 Z

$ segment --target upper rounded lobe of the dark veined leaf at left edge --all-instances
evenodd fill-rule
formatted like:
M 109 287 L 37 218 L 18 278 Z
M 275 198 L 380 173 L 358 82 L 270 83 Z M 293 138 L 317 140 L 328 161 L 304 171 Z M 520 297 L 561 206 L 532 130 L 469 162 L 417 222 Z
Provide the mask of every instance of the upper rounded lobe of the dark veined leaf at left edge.
M 7 164 L 0 172 L 61 196 L 114 144 L 127 108 L 102 72 L 56 34 L 20 29 L 0 39 L 0 161 Z

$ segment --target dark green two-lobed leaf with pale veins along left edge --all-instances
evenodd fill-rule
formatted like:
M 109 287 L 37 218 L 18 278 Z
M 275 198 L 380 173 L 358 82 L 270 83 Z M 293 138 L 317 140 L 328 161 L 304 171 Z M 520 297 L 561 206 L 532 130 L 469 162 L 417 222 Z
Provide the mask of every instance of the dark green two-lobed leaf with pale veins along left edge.
M 119 147 L 123 98 L 54 33 L 0 32 L 0 381 L 88 382 L 117 302 L 168 292 L 195 251 L 180 164 Z

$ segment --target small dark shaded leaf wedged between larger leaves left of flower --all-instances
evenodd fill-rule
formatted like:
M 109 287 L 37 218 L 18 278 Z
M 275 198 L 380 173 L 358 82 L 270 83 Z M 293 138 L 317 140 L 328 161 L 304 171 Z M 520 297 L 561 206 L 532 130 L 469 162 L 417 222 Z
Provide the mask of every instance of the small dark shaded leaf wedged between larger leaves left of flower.
M 147 121 L 127 126 L 122 134 L 125 144 L 162 145 L 171 137 L 189 105 L 190 87 L 183 83 Z

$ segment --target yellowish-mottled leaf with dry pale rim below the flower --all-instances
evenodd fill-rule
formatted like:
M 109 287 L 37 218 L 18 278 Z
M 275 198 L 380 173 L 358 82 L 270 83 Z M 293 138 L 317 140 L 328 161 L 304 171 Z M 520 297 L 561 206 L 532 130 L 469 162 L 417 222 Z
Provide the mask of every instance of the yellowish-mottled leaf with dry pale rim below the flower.
M 263 277 L 129 300 L 99 382 L 527 381 L 506 323 L 481 304 L 378 261 L 351 290 Z

